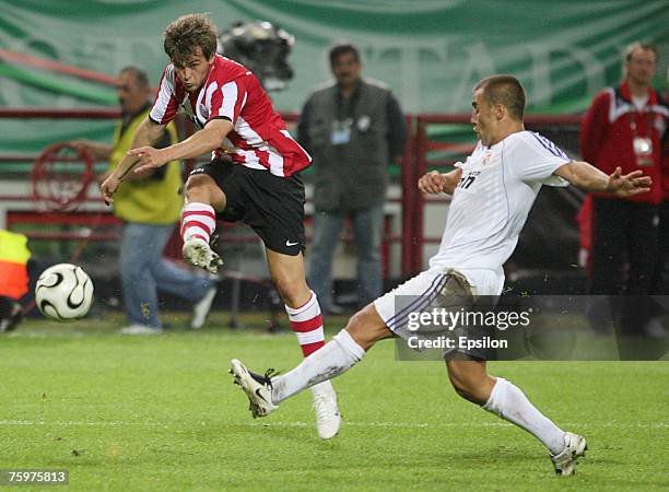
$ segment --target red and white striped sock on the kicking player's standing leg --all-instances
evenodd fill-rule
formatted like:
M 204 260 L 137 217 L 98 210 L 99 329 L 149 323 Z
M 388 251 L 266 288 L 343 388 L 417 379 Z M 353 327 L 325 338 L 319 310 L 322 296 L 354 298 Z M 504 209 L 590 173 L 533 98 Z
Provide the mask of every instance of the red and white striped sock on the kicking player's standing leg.
M 295 308 L 286 305 L 285 312 L 291 320 L 291 329 L 297 337 L 302 354 L 305 358 L 325 347 L 322 316 L 320 315 L 320 305 L 315 292 L 312 291 L 312 296 L 304 306 Z M 332 388 L 332 383 L 329 380 L 312 386 L 314 397 L 331 393 L 334 393 L 334 388 Z

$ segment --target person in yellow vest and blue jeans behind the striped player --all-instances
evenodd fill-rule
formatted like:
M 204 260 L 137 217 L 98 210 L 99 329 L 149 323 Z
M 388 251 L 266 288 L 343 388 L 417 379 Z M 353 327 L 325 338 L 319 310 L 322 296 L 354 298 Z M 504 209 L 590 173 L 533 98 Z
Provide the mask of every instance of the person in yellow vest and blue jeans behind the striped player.
M 118 75 L 118 99 L 122 118 L 114 131 L 114 143 L 105 145 L 86 140 L 71 142 L 87 149 L 99 160 L 109 160 L 105 177 L 130 150 L 140 122 L 151 108 L 151 87 L 143 70 L 127 67 Z M 163 132 L 157 148 L 177 142 L 174 125 Z M 120 246 L 120 277 L 129 326 L 126 335 L 162 331 L 157 290 L 193 303 L 190 327 L 202 327 L 216 293 L 215 279 L 179 268 L 163 257 L 163 249 L 178 222 L 183 199 L 178 161 L 143 173 L 129 173 L 116 194 L 114 214 L 124 221 Z

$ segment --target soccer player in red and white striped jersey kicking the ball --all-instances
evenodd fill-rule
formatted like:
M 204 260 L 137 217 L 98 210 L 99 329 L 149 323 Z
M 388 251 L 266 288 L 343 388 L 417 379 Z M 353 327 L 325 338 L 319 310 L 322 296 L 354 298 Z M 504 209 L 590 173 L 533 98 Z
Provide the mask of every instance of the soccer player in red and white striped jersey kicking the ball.
M 307 356 L 325 345 L 320 307 L 306 283 L 302 254 L 305 197 L 298 172 L 312 160 L 287 132 L 258 79 L 216 55 L 216 28 L 207 15 L 185 15 L 169 24 L 164 48 L 171 63 L 160 92 L 132 150 L 102 184 L 103 198 L 110 203 L 130 172 L 212 152 L 212 161 L 196 167 L 186 183 L 184 257 L 215 273 L 222 261 L 209 242 L 216 219 L 253 227 L 265 243 L 272 281 Z M 175 145 L 150 147 L 179 107 L 199 130 Z M 332 384 L 312 386 L 312 393 L 318 435 L 331 438 L 341 423 Z

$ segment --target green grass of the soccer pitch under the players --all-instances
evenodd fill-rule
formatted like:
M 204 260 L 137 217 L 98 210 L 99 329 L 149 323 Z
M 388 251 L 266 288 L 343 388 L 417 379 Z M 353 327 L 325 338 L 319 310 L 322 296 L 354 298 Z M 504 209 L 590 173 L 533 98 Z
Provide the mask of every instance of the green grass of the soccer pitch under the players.
M 669 488 L 667 362 L 491 364 L 587 436 L 578 473 L 562 478 L 532 436 L 459 399 L 443 364 L 397 362 L 391 342 L 334 382 L 334 440 L 317 438 L 308 393 L 254 421 L 230 359 L 285 370 L 300 351 L 291 333 L 224 319 L 153 338 L 122 337 L 115 320 L 1 336 L 0 468 L 69 469 L 68 490 L 82 491 Z

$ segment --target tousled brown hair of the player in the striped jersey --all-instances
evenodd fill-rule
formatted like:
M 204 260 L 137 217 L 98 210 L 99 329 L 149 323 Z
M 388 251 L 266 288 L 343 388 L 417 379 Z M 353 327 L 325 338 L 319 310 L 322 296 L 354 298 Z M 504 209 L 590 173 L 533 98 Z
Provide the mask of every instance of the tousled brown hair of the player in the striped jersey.
M 172 61 L 184 63 L 198 46 L 207 59 L 216 51 L 216 26 L 208 14 L 183 15 L 165 28 L 163 48 Z

